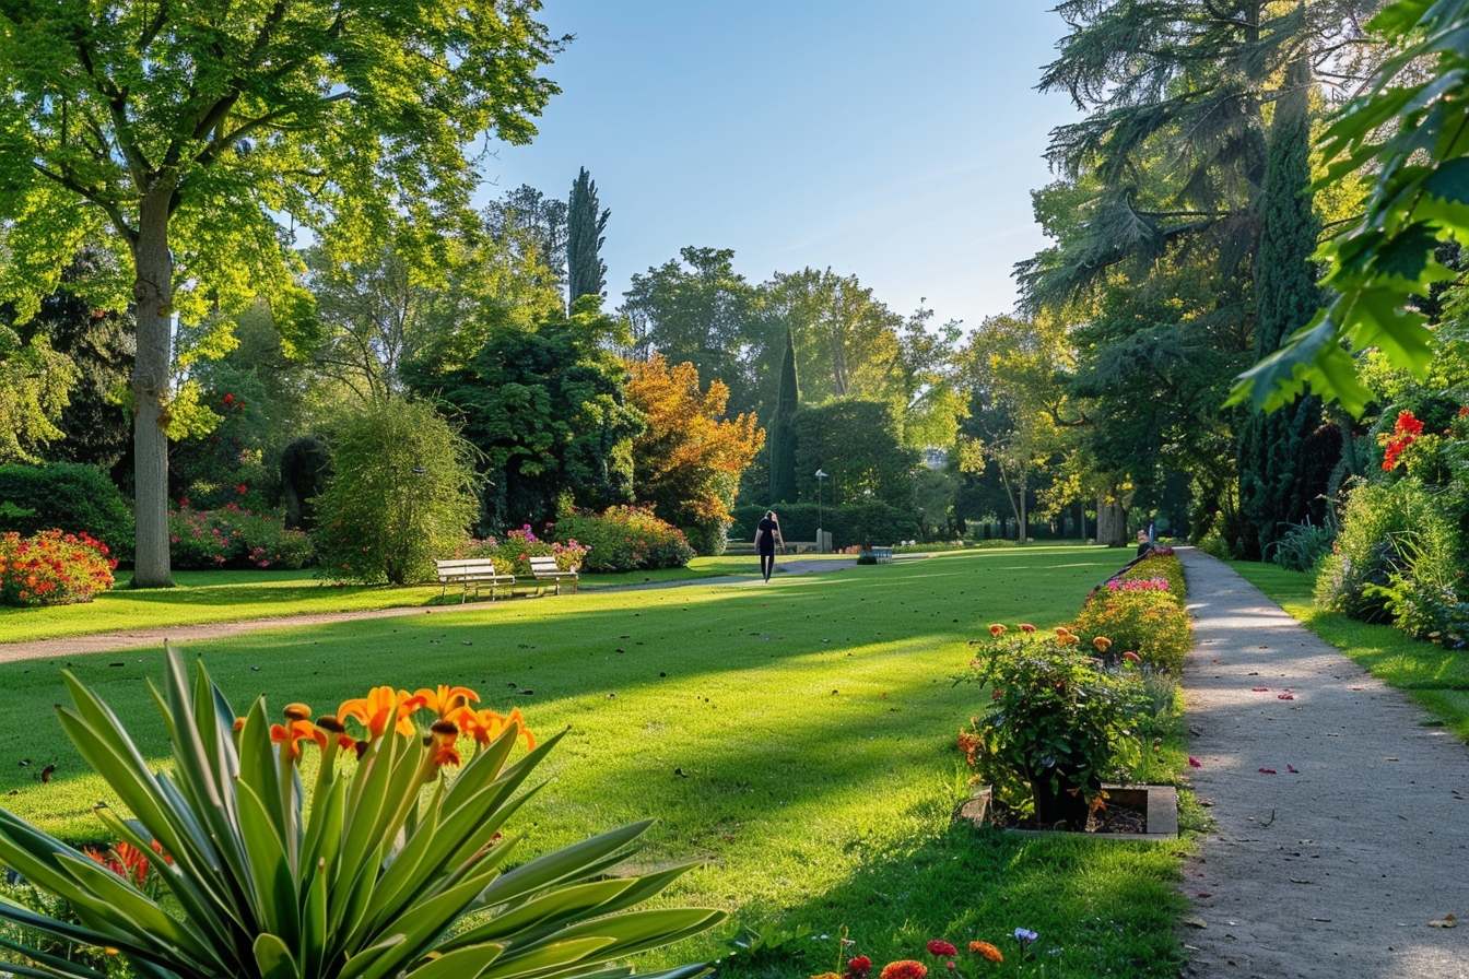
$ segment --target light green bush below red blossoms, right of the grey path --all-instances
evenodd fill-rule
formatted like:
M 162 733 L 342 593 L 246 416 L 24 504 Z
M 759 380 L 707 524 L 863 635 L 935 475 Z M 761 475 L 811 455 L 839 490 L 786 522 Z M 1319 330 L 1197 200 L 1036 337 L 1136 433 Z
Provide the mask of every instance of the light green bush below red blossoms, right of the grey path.
M 1384 589 L 1394 575 L 1451 584 L 1459 556 L 1459 531 L 1440 493 L 1416 478 L 1359 483 L 1316 577 L 1316 603 L 1365 622 L 1387 622 L 1393 612 Z

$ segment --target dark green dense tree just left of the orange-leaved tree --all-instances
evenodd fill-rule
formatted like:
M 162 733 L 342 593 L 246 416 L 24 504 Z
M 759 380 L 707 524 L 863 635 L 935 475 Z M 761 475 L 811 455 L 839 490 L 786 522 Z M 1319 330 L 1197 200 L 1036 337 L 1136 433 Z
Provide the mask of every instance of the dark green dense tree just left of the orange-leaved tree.
M 463 437 L 482 454 L 479 533 L 523 524 L 539 533 L 563 496 L 593 509 L 632 502 L 642 418 L 624 402 L 626 371 L 602 348 L 610 329 L 586 313 L 535 332 L 498 327 L 467 367 L 408 379 L 458 412 Z

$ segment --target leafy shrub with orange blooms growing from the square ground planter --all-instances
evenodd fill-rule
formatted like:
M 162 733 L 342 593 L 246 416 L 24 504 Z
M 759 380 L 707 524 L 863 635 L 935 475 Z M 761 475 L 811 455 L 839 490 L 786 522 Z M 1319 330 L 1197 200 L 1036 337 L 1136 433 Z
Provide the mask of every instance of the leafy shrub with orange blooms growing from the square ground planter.
M 1103 776 L 1141 756 L 1133 721 L 1144 691 L 1137 675 L 1109 669 L 1066 628 L 990 627 L 961 681 L 990 690 L 984 713 L 961 738 L 996 800 L 1034 807 L 1042 826 L 1086 829 Z M 1111 643 L 1094 640 L 1097 652 Z M 1090 652 L 1090 650 L 1087 650 Z

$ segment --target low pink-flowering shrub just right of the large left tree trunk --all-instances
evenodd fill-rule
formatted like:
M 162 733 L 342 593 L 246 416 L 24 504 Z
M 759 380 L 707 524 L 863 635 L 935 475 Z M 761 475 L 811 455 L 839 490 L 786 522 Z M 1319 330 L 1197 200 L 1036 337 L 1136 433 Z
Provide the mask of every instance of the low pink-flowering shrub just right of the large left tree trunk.
M 212 568 L 284 568 L 297 571 L 316 555 L 311 540 L 300 530 L 286 530 L 281 517 L 251 512 L 238 503 L 219 509 L 182 508 L 169 512 L 169 555 L 173 567 L 188 571 Z

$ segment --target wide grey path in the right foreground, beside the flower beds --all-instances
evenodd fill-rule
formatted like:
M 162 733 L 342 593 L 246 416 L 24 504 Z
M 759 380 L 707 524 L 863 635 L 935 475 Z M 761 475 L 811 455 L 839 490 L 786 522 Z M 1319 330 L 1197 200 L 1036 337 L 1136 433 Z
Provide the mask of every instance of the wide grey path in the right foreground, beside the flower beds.
M 1469 979 L 1469 746 L 1228 565 L 1178 553 L 1193 781 L 1216 820 L 1184 869 L 1184 975 Z M 1450 913 L 1465 926 L 1429 925 Z

